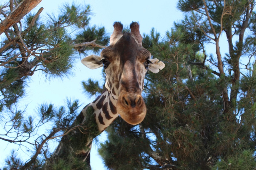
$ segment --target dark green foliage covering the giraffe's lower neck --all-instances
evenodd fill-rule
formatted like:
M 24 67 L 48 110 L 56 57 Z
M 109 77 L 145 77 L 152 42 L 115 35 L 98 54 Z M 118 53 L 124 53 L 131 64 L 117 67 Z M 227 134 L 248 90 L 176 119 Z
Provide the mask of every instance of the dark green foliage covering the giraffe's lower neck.
M 76 107 L 76 104 L 73 103 L 72 106 Z M 90 148 L 86 146 L 86 143 L 90 141 L 89 139 L 100 134 L 93 112 L 93 107 L 88 106 L 85 119 L 83 114 L 78 115 L 75 120 L 66 117 L 66 120 L 72 122 L 72 125 L 68 126 L 72 128 L 72 131 L 62 137 L 58 146 L 61 149 L 47 160 L 47 164 L 45 164 L 46 169 L 90 169 L 87 163 L 83 161 L 83 153 L 82 159 L 77 154 L 81 151 L 89 151 Z M 86 121 L 83 122 L 83 120 Z M 63 124 L 65 123 L 62 122 L 61 125 L 63 126 Z

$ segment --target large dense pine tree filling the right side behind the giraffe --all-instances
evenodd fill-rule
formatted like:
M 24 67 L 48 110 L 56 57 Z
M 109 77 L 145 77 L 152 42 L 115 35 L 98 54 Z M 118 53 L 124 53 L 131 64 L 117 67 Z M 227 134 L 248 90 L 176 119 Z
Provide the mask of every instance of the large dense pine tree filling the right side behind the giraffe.
M 254 5 L 180 0 L 184 18 L 163 39 L 154 29 L 144 35 L 143 47 L 165 68 L 146 75 L 145 120 L 117 119 L 107 129 L 99 151 L 109 169 L 256 168 Z

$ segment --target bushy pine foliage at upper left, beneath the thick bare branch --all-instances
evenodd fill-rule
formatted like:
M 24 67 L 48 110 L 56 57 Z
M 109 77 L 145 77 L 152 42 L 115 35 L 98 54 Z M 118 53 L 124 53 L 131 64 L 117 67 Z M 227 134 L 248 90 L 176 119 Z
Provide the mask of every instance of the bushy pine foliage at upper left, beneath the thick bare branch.
M 97 39 L 96 44 L 106 46 L 109 41 L 104 27 L 89 26 L 91 14 L 89 5 L 64 4 L 59 15 L 48 14 L 47 19 L 29 13 L 22 31 L 15 24 L 0 47 L 1 62 L 6 67 L 0 73 L 0 89 L 8 90 L 15 81 L 24 83 L 37 70 L 43 70 L 46 77 L 68 76 L 72 74 L 76 51 L 99 52 L 100 47 L 83 44 Z M 71 33 L 70 29 L 77 31 Z M 19 33 L 25 46 L 19 41 Z

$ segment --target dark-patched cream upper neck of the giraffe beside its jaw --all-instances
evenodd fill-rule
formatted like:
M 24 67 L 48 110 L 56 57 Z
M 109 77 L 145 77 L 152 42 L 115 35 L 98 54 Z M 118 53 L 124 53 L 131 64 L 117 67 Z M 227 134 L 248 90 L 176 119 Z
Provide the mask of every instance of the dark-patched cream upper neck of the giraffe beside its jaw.
M 98 99 L 94 100 L 91 104 L 88 105 L 92 106 L 94 109 L 93 114 L 95 115 L 100 133 L 103 132 L 118 116 L 116 112 L 116 103 L 117 99 L 115 99 L 106 90 L 100 95 Z M 86 113 L 87 107 L 83 109 L 83 113 Z

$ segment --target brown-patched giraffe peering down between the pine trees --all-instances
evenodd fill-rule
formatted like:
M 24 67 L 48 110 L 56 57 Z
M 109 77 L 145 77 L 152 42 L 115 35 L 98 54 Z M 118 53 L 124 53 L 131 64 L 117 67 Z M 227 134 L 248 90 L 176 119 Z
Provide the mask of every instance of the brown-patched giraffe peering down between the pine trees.
M 86 121 L 88 122 L 86 115 L 90 109 L 99 134 L 118 115 L 132 125 L 143 121 L 147 112 L 141 96 L 145 74 L 148 70 L 157 73 L 165 66 L 158 59 L 152 59 L 150 52 L 142 47 L 142 36 L 137 22 L 131 23 L 131 33 L 122 33 L 123 25 L 120 22 L 115 22 L 113 26 L 114 31 L 110 36 L 110 44 L 102 50 L 100 56 L 89 55 L 81 61 L 90 69 L 103 67 L 106 72 L 106 90 L 96 100 L 84 107 L 78 115 L 84 124 Z M 92 139 L 93 137 L 87 139 L 85 144 L 87 149 L 76 151 L 76 154 L 80 155 L 80 158 L 88 164 L 90 164 Z M 60 152 L 60 145 L 58 148 L 55 150 L 55 154 Z

